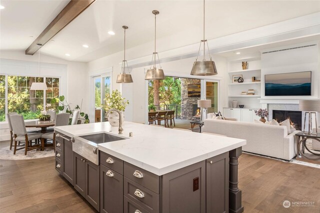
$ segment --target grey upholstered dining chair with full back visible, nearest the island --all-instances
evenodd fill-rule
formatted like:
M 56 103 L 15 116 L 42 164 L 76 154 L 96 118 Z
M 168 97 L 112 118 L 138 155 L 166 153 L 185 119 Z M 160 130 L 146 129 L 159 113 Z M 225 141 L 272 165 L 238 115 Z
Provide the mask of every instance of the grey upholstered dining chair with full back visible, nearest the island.
M 27 151 L 36 149 L 41 146 L 40 144 L 32 146 L 31 141 L 40 139 L 42 134 L 41 133 L 27 133 L 22 115 L 17 115 L 17 114 L 10 115 L 10 120 L 11 120 L 13 135 L 14 135 L 13 155 L 15 155 L 16 150 L 23 149 L 23 147 L 17 149 L 17 146 L 18 146 L 17 142 L 25 142 L 24 155 L 26 155 Z

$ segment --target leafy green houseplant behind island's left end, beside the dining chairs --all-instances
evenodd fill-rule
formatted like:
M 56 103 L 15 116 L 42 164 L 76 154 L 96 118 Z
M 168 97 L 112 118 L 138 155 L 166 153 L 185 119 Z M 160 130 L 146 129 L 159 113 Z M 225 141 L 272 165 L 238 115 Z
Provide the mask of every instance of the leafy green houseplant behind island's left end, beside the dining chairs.
M 80 120 L 83 120 L 84 121 L 83 123 L 87 124 L 90 122 L 88 114 L 81 112 L 81 107 L 79 107 L 79 105 L 75 105 L 75 107 L 71 109 L 71 105 L 65 100 L 64 95 L 61 95 L 58 98 L 51 99 L 51 104 L 56 104 L 56 103 L 59 103 L 59 105 L 57 106 L 57 110 L 59 111 L 64 110 L 66 113 L 70 114 L 69 125 L 71 124 L 73 112 L 75 110 L 80 111 Z M 81 101 L 81 106 L 82 106 L 82 101 Z

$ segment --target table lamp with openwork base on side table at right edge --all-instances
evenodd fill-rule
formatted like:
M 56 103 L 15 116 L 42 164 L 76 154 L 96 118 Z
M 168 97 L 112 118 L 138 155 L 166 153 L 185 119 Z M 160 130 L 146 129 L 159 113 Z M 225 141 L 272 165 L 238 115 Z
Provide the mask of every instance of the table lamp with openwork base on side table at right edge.
M 305 120 L 308 114 L 308 135 L 312 134 L 312 114 L 314 114 L 315 134 L 317 134 L 316 112 L 320 112 L 320 100 L 299 100 L 299 110 L 304 111 L 303 132 L 305 132 Z

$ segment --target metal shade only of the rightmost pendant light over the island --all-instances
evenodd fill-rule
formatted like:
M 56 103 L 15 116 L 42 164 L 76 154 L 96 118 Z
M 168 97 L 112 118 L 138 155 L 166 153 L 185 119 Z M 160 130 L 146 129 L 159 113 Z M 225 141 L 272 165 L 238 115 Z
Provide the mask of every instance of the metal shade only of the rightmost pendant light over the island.
M 216 71 L 214 61 L 194 61 L 190 75 L 216 75 L 218 72 Z

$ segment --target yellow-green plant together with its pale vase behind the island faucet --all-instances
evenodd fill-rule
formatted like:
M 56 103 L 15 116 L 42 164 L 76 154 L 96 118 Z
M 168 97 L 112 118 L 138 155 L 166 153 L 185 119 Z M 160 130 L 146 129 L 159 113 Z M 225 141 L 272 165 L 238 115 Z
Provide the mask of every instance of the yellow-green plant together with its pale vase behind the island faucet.
M 117 109 L 121 112 L 121 121 L 123 122 L 123 112 L 125 107 L 129 104 L 129 101 L 122 98 L 121 93 L 117 89 L 113 90 L 111 95 L 109 93 L 105 94 L 103 101 L 104 104 L 101 107 L 105 110 L 105 113 L 110 109 Z M 119 125 L 119 115 L 117 113 L 110 112 L 107 119 L 111 126 Z

